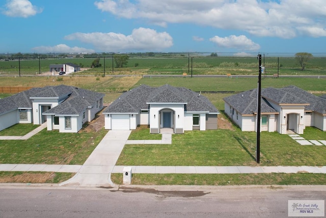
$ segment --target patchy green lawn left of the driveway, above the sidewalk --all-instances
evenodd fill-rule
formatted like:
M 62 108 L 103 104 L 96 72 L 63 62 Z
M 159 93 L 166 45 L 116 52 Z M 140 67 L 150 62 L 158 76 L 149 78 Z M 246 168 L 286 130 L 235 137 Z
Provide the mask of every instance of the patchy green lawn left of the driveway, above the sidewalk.
M 106 133 L 44 129 L 27 140 L 1 140 L 0 163 L 83 164 Z

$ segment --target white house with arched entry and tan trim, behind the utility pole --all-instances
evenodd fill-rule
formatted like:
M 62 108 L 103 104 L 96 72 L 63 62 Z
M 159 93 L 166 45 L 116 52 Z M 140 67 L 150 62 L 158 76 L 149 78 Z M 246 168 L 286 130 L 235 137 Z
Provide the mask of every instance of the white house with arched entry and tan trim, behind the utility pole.
M 257 89 L 224 98 L 225 113 L 242 131 L 257 130 Z M 261 90 L 261 131 L 303 134 L 316 127 L 326 131 L 326 99 L 296 86 Z

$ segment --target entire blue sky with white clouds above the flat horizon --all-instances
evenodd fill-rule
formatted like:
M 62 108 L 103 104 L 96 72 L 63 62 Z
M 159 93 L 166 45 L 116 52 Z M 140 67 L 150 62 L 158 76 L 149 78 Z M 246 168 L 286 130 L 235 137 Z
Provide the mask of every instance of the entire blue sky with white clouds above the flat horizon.
M 6 0 L 0 53 L 326 54 L 325 0 Z

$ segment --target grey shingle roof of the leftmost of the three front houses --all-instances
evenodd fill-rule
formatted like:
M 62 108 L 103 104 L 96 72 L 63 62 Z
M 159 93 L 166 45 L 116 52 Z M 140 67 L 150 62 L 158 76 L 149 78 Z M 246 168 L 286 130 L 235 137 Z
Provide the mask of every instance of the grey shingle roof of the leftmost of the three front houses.
M 32 88 L 0 99 L 0 114 L 19 108 L 32 108 L 32 101 L 37 98 L 54 98 L 58 100 L 66 98 L 62 104 L 51 108 L 43 114 L 57 114 L 62 111 L 69 111 L 63 114 L 80 114 L 81 110 L 93 106 L 103 96 L 104 94 L 102 93 L 66 85 Z

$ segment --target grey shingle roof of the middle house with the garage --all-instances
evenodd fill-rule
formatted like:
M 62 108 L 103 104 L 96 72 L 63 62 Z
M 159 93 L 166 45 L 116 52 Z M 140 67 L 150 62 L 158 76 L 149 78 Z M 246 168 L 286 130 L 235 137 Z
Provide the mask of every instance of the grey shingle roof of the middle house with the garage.
M 149 104 L 155 103 L 178 103 L 186 105 L 186 111 L 219 113 L 205 96 L 168 84 L 160 87 L 141 85 L 124 92 L 104 113 L 139 113 L 141 109 L 148 109 Z

